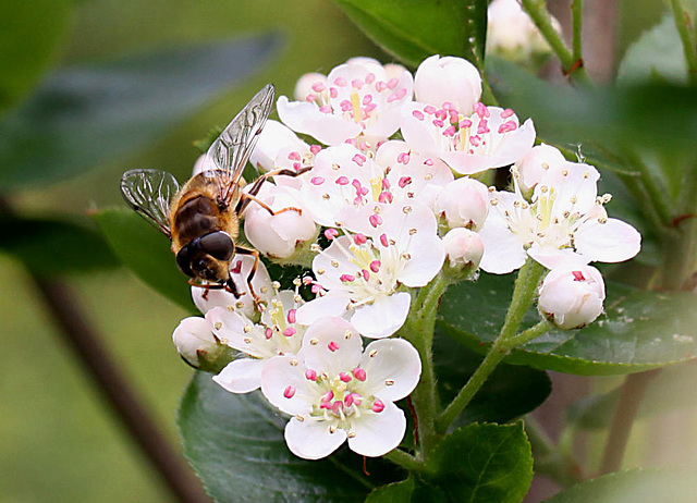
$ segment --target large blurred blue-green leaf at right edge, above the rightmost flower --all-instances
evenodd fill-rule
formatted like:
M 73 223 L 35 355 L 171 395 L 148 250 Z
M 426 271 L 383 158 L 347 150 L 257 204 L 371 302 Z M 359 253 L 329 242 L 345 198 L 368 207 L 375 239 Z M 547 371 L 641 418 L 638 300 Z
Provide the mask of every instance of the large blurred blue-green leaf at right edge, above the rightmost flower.
M 595 148 L 620 159 L 625 150 L 694 155 L 697 88 L 647 84 L 573 89 L 549 84 L 493 57 L 487 58 L 487 75 L 499 101 L 521 118 L 533 118 L 545 142 L 579 145 L 584 152 L 590 146 L 591 151 Z

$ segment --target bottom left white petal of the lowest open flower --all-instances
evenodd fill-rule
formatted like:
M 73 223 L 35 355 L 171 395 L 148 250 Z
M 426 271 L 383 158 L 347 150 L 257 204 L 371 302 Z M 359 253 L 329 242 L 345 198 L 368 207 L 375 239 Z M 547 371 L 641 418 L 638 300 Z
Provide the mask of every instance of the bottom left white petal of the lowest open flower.
M 338 429 L 329 431 L 325 421 L 293 417 L 285 426 L 285 443 L 293 454 L 305 459 L 320 459 L 329 456 L 346 440 L 346 432 Z

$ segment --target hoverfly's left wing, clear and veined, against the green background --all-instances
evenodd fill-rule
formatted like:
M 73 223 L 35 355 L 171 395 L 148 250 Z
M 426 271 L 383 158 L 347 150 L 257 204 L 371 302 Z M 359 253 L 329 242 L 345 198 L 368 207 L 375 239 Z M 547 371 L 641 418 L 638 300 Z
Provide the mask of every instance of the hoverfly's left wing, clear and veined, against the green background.
M 179 183 L 167 171 L 130 170 L 121 177 L 121 195 L 129 206 L 170 238 L 170 207 L 176 193 Z

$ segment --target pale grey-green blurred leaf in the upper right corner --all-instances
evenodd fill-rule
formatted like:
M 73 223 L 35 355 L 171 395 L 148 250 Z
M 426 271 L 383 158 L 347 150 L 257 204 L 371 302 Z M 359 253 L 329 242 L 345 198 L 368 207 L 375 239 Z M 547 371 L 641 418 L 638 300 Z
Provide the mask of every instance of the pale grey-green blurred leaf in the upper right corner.
M 687 64 L 672 14 L 665 14 L 632 44 L 617 69 L 619 84 L 687 83 Z

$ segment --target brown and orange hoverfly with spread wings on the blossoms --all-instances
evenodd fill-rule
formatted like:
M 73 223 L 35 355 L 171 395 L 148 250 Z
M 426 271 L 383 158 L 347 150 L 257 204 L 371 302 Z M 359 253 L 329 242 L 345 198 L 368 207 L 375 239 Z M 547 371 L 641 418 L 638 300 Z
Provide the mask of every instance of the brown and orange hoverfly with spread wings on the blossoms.
M 123 198 L 171 240 L 176 265 L 189 277 L 192 285 L 227 289 L 240 297 L 230 275 L 230 263 L 235 253 L 252 255 L 255 261 L 247 275 L 247 286 L 258 302 L 252 279 L 259 263 L 259 253 L 235 243 L 240 235 L 240 218 L 252 201 L 271 214 L 288 210 L 301 212 L 298 208 L 273 211 L 255 196 L 269 176 L 297 176 L 309 168 L 268 172 L 247 192 L 242 192 L 245 185 L 242 173 L 272 106 L 273 86 L 268 84 L 212 143 L 201 171 L 183 187 L 172 174 L 160 170 L 130 170 L 121 177 Z

